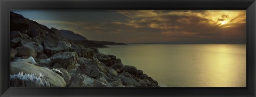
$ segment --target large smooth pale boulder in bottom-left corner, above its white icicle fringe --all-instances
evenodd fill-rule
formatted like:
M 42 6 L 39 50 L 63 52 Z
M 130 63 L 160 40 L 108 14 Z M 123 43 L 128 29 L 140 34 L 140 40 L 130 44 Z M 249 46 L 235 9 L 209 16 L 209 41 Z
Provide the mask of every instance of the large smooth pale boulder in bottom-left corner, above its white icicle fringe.
M 61 76 L 48 68 L 38 67 L 24 61 L 11 62 L 10 74 L 14 75 L 20 72 L 23 72 L 23 74 L 35 74 L 36 77 L 42 75 L 50 83 L 50 87 L 64 87 L 66 85 L 65 80 Z

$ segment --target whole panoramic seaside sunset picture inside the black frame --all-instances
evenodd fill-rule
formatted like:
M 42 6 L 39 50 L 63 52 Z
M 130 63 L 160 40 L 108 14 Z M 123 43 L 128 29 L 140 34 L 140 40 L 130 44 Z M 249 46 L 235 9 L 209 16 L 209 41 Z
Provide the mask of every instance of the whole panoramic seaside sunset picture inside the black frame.
M 246 87 L 246 10 L 10 10 L 10 87 Z

